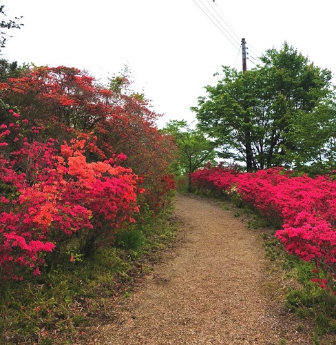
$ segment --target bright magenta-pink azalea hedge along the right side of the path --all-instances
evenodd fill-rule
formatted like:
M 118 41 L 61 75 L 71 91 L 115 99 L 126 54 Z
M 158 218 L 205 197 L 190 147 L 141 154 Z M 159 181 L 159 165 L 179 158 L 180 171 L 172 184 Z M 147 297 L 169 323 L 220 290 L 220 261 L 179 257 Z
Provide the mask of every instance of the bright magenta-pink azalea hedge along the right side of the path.
M 193 183 L 220 192 L 234 191 L 282 226 L 275 235 L 288 253 L 313 260 L 327 282 L 320 286 L 335 291 L 336 182 L 329 176 L 291 177 L 283 168 L 238 174 L 222 166 L 206 166 L 193 174 Z

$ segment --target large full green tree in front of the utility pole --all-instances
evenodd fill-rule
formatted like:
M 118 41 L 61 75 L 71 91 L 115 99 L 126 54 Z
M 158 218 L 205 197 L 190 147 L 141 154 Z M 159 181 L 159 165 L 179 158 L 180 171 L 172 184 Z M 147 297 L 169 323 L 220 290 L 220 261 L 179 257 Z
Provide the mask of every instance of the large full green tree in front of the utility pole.
M 244 73 L 223 68 L 217 86 L 207 86 L 208 95 L 191 108 L 199 128 L 218 138 L 222 157 L 244 161 L 248 171 L 325 158 L 335 132 L 330 70 L 287 43 L 267 50 L 261 61 Z

